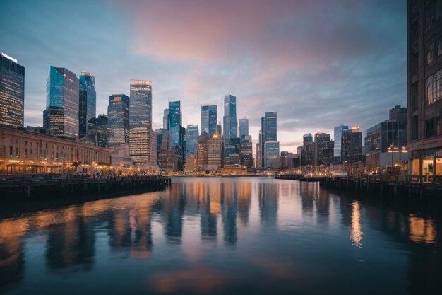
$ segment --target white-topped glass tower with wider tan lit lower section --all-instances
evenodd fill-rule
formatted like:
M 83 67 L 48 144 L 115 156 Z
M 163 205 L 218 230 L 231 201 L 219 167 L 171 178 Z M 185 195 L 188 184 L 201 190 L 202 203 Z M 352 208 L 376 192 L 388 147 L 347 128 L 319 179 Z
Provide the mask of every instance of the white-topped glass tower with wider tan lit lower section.
M 156 166 L 157 134 L 152 130 L 152 83 L 131 79 L 129 153 L 133 164 Z

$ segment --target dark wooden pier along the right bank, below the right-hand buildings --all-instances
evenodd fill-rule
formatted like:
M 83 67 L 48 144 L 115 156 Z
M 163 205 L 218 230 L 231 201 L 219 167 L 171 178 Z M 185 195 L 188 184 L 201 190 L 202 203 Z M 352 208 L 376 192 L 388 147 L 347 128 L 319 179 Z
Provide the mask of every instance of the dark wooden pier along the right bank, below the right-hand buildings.
M 350 176 L 277 175 L 276 179 L 319 182 L 321 187 L 334 190 L 369 192 L 375 195 L 395 197 L 442 197 L 442 183 L 414 183 L 400 180 L 400 176 L 380 174 L 355 174 Z

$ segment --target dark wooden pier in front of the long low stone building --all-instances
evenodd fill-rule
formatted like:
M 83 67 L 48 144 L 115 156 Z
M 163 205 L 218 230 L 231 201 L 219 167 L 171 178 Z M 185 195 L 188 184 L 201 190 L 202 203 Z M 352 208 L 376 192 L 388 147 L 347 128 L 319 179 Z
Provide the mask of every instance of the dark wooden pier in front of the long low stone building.
M 0 180 L 0 201 L 6 199 L 64 197 L 89 195 L 102 192 L 124 192 L 130 190 L 165 190 L 170 178 L 155 176 L 129 177 L 75 177 L 75 178 L 20 178 Z

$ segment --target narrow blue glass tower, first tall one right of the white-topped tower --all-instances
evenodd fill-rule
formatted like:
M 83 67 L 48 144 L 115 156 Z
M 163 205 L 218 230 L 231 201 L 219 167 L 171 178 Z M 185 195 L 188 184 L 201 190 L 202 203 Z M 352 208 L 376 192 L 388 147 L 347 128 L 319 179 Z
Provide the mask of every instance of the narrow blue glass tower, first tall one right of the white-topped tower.
M 186 129 L 181 126 L 181 102 L 170 101 L 169 102 L 169 130 L 170 130 L 170 144 L 171 149 L 178 155 L 179 170 L 182 170 L 184 166 L 184 151 L 186 151 L 184 136 L 186 135 Z

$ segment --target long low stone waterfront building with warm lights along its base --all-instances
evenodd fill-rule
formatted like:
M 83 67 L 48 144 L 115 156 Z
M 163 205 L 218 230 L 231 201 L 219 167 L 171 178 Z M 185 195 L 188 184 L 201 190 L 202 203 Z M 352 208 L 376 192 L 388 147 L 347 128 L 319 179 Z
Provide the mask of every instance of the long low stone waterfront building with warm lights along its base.
M 0 127 L 0 174 L 90 172 L 92 165 L 110 163 L 109 149 Z

